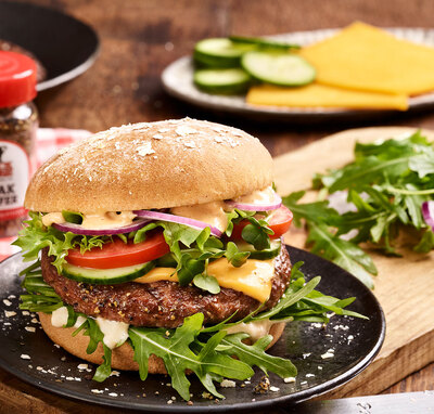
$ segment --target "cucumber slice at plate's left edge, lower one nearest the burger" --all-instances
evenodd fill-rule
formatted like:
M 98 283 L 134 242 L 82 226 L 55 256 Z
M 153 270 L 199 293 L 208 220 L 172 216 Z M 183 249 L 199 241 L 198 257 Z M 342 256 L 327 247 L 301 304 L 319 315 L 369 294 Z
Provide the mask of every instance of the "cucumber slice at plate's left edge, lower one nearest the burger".
M 193 81 L 208 93 L 237 94 L 247 90 L 251 77 L 243 69 L 197 69 Z

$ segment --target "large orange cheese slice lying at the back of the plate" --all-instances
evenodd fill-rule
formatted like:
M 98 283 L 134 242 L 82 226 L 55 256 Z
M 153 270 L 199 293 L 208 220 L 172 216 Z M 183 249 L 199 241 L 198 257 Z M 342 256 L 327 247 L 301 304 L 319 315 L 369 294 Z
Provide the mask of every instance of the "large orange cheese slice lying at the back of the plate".
M 354 23 L 299 54 L 316 67 L 317 82 L 322 85 L 409 95 L 434 90 L 434 48 L 363 23 Z

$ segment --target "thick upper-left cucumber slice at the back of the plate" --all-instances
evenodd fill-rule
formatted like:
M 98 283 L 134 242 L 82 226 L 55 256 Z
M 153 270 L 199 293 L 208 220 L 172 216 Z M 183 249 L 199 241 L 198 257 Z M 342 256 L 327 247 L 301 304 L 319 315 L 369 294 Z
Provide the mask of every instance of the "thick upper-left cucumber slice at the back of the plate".
M 255 48 L 251 44 L 235 47 L 228 38 L 212 38 L 199 41 L 193 57 L 207 67 L 238 67 L 243 53 Z

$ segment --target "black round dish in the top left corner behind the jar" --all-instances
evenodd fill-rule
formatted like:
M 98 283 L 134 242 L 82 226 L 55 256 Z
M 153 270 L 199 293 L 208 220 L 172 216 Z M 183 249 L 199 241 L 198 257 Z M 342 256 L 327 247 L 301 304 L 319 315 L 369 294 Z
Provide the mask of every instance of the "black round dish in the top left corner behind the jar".
M 86 72 L 97 59 L 92 28 L 66 14 L 35 4 L 0 2 L 0 39 L 31 52 L 47 69 L 38 91 L 56 87 Z

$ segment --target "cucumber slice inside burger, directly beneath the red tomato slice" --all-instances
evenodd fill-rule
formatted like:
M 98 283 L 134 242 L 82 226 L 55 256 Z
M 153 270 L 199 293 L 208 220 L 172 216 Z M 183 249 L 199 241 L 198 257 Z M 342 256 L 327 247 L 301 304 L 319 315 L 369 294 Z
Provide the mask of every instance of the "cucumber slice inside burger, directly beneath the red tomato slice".
M 143 276 L 143 274 L 146 274 L 154 267 L 155 263 L 153 261 L 117 269 L 91 269 L 66 263 L 63 266 L 62 274 L 77 282 L 114 285 Z

